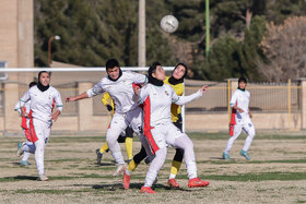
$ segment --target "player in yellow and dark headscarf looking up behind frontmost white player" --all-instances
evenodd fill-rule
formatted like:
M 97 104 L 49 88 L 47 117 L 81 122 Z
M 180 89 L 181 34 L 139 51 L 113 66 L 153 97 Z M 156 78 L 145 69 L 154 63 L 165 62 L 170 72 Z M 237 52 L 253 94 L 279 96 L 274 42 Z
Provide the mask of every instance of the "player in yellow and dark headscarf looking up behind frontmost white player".
M 164 83 L 170 85 L 175 93 L 178 96 L 183 96 L 184 94 L 184 79 L 187 75 L 187 65 L 185 63 L 179 62 L 173 70 L 172 76 L 167 76 Z M 173 123 L 183 132 L 183 119 L 181 119 L 181 108 L 176 104 L 172 104 L 170 108 L 172 121 Z M 145 149 L 142 147 L 140 152 L 134 155 L 133 159 L 129 163 L 128 168 L 123 173 L 123 188 L 129 189 L 130 185 L 130 177 L 132 171 L 137 168 L 137 166 L 146 157 Z M 168 179 L 168 187 L 170 188 L 179 188 L 179 184 L 176 182 L 176 175 L 180 168 L 181 161 L 184 157 L 184 151 L 181 148 L 176 148 L 176 154 L 174 156 L 170 175 Z M 150 163 L 152 158 L 146 158 L 145 163 Z

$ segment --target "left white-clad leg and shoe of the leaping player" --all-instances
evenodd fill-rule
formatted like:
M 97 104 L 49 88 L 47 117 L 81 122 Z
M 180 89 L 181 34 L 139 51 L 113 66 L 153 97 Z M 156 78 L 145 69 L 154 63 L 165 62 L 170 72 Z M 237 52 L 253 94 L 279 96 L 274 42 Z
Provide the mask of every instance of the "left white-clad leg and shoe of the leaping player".
M 126 128 L 127 128 L 127 122 L 125 120 L 125 116 L 115 113 L 106 133 L 106 142 L 108 144 L 109 151 L 111 152 L 115 161 L 117 163 L 117 168 L 113 175 L 114 177 L 119 176 L 126 169 L 121 148 L 117 141 L 119 135 Z

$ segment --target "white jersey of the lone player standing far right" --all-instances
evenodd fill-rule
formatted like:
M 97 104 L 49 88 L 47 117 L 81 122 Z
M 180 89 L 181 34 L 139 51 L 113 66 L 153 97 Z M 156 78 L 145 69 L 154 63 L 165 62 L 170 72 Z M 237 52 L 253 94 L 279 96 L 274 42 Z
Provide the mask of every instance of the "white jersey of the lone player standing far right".
M 236 105 L 238 108 L 244 110 L 244 112 L 236 111 L 235 121 L 237 123 L 248 122 L 250 120 L 248 115 L 249 99 L 250 93 L 248 91 L 236 89 L 232 95 L 231 107 L 233 108 L 233 106 Z

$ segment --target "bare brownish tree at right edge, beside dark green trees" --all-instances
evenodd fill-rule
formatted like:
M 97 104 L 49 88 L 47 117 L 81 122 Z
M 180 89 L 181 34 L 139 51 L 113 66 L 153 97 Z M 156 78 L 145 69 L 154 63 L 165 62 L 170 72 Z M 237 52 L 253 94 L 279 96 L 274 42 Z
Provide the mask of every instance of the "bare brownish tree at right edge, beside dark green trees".
M 286 82 L 306 76 L 306 17 L 293 16 L 282 25 L 270 23 L 260 46 L 268 63 L 257 61 L 269 81 Z

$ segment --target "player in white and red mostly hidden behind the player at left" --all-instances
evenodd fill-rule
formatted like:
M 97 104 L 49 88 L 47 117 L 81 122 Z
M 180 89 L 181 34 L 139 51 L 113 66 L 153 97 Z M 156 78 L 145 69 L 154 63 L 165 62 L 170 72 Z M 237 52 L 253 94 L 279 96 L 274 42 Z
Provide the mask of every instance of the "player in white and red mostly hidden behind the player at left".
M 28 88 L 31 88 L 32 86 L 35 86 L 37 85 L 36 82 L 31 82 L 28 84 Z M 23 142 L 23 143 L 17 143 L 17 156 L 20 157 L 21 155 L 23 155 L 21 161 L 20 161 L 20 166 L 23 167 L 23 166 L 30 166 L 31 164 L 27 161 L 31 153 L 28 152 L 24 152 L 23 147 L 26 147 L 26 146 L 34 146 L 34 144 L 32 143 L 32 136 L 31 136 L 31 133 L 30 133 L 30 120 L 32 118 L 32 111 L 30 109 L 30 104 L 31 104 L 31 100 L 28 100 L 25 105 L 24 105 L 24 111 L 26 112 L 26 117 L 21 117 L 21 128 L 22 128 L 22 131 L 25 135 L 25 139 L 26 141 Z M 17 101 L 17 104 L 15 105 L 15 108 L 14 108 L 15 111 L 17 111 L 20 115 L 21 115 L 21 103 Z M 25 145 L 26 144 L 26 145 Z

